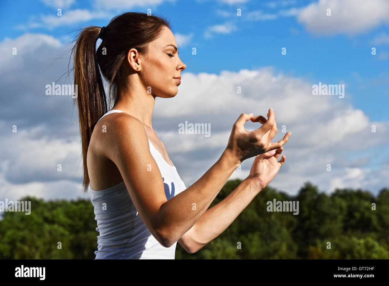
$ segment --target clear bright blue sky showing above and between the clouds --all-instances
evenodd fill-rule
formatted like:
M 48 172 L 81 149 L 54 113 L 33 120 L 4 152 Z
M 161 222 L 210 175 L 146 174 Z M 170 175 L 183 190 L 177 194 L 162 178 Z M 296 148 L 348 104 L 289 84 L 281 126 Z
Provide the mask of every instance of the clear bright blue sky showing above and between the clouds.
M 66 16 L 69 11 L 77 9 L 94 10 L 91 8 L 98 7 L 94 6 L 96 5 L 94 3 L 74 1 L 68 9 L 62 8 L 62 15 Z M 296 16 L 279 16 L 280 11 L 301 9 L 309 3 L 315 1 L 236 1 L 235 4 L 228 4 L 228 1 L 187 0 L 161 1 L 158 6 L 147 7 L 153 10 L 155 7 L 156 13 L 161 12 L 170 17 L 173 33 L 188 34 L 195 31 L 190 43 L 179 47 L 181 59 L 191 72 L 219 73 L 221 70 L 238 71 L 241 68 L 274 66 L 277 70 L 293 74 L 295 77 L 305 77 L 312 82 L 335 84 L 344 81 L 348 83 L 346 89 L 348 96 L 345 100 L 364 110 L 371 120 L 387 120 L 389 117 L 387 24 L 378 24 L 361 33 L 316 35 L 306 31 L 304 24 L 298 23 Z M 40 1 L 3 1 L 0 22 L 2 27 L 7 29 L 2 29 L 1 40 L 6 37 L 18 37 L 26 31 L 60 37 L 77 25 L 103 26 L 109 23 L 108 18 L 102 18 L 74 21 L 51 29 L 27 28 L 29 23 L 39 23 L 40 17 L 56 16 L 55 7 L 63 6 L 51 7 Z M 242 10 L 241 17 L 235 16 L 238 8 Z M 146 9 L 135 5 L 130 10 L 147 12 Z M 264 15 L 277 17 L 254 20 L 249 14 L 258 10 Z M 126 11 L 128 9 L 112 9 L 107 15 L 114 16 Z M 226 15 L 223 16 L 223 13 Z M 212 38 L 204 38 L 204 33 L 210 26 L 225 23 L 231 23 L 236 30 L 215 33 Z M 382 43 L 375 44 L 382 35 L 386 35 Z M 197 58 L 191 57 L 192 46 L 197 47 Z M 287 49 L 284 56 L 281 55 L 282 47 Z M 376 47 L 376 56 L 371 55 L 371 47 Z M 203 65 L 204 62 L 207 65 Z

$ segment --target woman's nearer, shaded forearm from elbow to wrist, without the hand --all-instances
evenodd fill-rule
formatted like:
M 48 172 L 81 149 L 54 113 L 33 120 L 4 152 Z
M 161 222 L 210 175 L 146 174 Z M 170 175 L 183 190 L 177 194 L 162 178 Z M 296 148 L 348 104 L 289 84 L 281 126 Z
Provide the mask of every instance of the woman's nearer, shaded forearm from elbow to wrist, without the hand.
M 199 180 L 161 205 L 159 229 L 168 246 L 202 217 L 239 163 L 226 149 Z

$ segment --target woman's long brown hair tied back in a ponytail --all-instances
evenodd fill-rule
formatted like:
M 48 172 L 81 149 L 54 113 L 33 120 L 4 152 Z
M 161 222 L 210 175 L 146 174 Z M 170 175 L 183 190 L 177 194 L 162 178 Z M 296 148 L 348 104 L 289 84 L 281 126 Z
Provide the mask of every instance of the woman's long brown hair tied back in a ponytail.
M 122 63 L 130 49 L 147 54 L 149 43 L 161 35 L 163 26 L 171 29 L 170 22 L 162 16 L 151 16 L 140 12 L 127 12 L 109 22 L 103 32 L 103 40 L 96 51 L 100 27 L 80 28 L 76 43 L 70 53 L 74 54 L 74 84 L 78 85 L 77 99 L 82 159 L 84 167 L 84 193 L 88 192 L 89 175 L 86 155 L 96 122 L 108 112 L 102 77 L 110 82 L 114 102 L 117 101 L 117 87 L 124 78 Z M 95 52 L 96 51 L 96 52 Z

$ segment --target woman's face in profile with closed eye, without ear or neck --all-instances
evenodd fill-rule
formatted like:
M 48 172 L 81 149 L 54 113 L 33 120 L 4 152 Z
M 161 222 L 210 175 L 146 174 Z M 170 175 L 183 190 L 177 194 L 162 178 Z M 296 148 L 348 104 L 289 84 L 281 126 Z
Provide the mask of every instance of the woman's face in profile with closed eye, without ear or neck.
M 140 58 L 140 80 L 151 89 L 151 94 L 161 98 L 174 97 L 178 92 L 180 77 L 186 65 L 178 57 L 177 44 L 169 28 L 149 45 L 149 52 Z

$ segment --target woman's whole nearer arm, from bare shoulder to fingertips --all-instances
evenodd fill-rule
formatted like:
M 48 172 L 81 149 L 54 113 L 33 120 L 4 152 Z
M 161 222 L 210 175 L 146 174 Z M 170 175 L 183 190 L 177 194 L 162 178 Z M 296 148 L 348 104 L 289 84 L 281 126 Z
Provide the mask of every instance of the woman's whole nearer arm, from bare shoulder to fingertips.
M 111 130 L 106 133 L 109 138 L 105 142 L 110 142 L 105 149 L 107 156 L 118 167 L 135 208 L 161 245 L 170 247 L 193 227 L 243 160 L 277 149 L 287 141 L 286 135 L 283 140 L 270 143 L 275 135 L 271 130 L 272 111 L 267 122 L 252 132 L 243 127 L 250 118 L 249 114 L 240 115 L 219 160 L 199 180 L 169 200 L 143 124 L 121 113 L 107 127 Z

